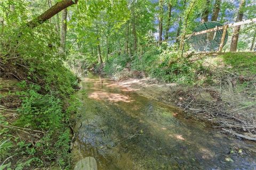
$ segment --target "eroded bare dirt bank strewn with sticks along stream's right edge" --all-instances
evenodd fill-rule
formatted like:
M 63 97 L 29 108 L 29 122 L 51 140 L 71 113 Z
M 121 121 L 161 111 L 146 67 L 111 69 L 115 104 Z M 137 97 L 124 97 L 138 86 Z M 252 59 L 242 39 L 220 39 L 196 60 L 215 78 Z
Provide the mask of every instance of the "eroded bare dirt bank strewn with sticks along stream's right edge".
M 116 82 L 149 99 L 179 106 L 187 116 L 210 121 L 213 128 L 256 141 L 255 105 L 240 106 L 244 96 L 228 87 L 187 87 L 158 83 L 155 79 L 128 79 Z M 231 83 L 231 82 L 230 82 Z M 246 96 L 248 97 L 248 96 Z

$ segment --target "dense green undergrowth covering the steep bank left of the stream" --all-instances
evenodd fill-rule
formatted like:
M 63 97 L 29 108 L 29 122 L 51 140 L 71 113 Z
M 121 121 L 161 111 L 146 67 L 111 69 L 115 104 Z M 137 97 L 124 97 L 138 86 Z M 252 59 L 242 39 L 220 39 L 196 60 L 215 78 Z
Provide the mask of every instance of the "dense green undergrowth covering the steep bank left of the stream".
M 0 169 L 71 168 L 78 79 L 64 66 L 66 55 L 53 28 L 50 23 L 24 28 L 19 37 L 21 30 L 12 24 L 3 30 Z

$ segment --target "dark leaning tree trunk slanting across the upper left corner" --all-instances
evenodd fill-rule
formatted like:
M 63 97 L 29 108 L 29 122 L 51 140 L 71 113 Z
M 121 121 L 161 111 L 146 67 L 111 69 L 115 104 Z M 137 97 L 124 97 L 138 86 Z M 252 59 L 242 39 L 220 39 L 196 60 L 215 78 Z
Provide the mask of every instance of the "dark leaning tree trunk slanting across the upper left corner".
M 49 10 L 46 10 L 43 14 L 37 16 L 34 20 L 31 20 L 27 23 L 28 27 L 35 28 L 37 25 L 49 20 L 55 14 L 58 14 L 60 11 L 64 10 L 65 8 L 69 7 L 70 5 L 76 4 L 78 0 L 62 0 L 55 5 L 53 5 Z

